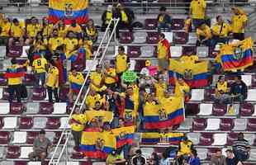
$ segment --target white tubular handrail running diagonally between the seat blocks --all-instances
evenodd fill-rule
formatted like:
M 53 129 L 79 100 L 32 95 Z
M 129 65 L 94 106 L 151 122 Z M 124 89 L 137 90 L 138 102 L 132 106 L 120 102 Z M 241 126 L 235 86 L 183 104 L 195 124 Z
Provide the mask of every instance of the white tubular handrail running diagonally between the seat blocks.
M 98 49 L 97 49 L 97 53 L 95 54 L 95 56 L 94 56 L 94 58 L 93 58 L 93 60 L 92 60 L 92 64 L 94 64 L 94 62 L 97 61 L 97 55 L 100 53 L 100 50 L 101 50 L 102 47 L 104 46 L 104 45 L 103 45 L 103 41 L 107 39 L 107 33 L 108 33 L 108 31 L 111 31 L 111 22 L 112 22 L 112 21 L 115 22 L 115 20 L 111 19 L 110 23 L 108 24 L 107 29 L 106 29 L 106 31 L 105 31 L 103 37 L 102 37 L 101 43 L 100 43 L 100 45 L 99 45 L 99 47 L 98 47 Z M 116 25 L 117 25 L 118 21 L 119 21 L 119 19 L 116 21 L 116 24 L 115 24 L 115 26 L 114 26 L 113 31 L 116 31 Z M 111 40 L 111 38 L 109 38 L 109 40 Z M 108 41 L 109 41 L 109 40 L 108 40 Z M 107 48 L 106 48 L 106 49 L 107 49 Z M 106 53 L 106 52 L 105 52 L 105 53 Z M 103 59 L 104 56 L 105 56 L 105 54 L 102 54 L 102 58 L 101 58 L 101 59 Z M 66 121 L 66 125 L 64 126 L 64 129 L 63 129 L 63 131 L 62 131 L 62 134 L 61 134 L 60 137 L 59 137 L 58 144 L 56 145 L 55 151 L 54 151 L 52 157 L 50 158 L 50 163 L 49 163 L 49 165 L 51 165 L 51 164 L 52 164 L 52 165 L 58 164 L 60 158 L 62 157 L 62 155 L 63 155 L 63 153 L 64 153 L 64 149 L 67 147 L 67 143 L 68 143 L 69 136 L 70 136 L 70 132 L 69 132 L 69 130 L 67 129 L 67 127 L 69 126 L 69 120 L 71 119 L 71 116 L 72 116 L 73 111 L 74 111 L 74 109 L 75 109 L 76 106 L 79 106 L 79 107 L 80 107 L 80 110 L 82 109 L 81 107 L 83 107 L 84 101 L 82 102 L 82 104 L 78 104 L 78 101 L 80 100 L 80 97 L 83 97 L 83 96 L 82 96 L 82 92 L 83 92 L 83 89 L 86 87 L 86 82 L 88 81 L 88 78 L 89 78 L 89 75 L 90 75 L 90 73 L 91 73 L 91 71 L 92 71 L 92 68 L 93 68 L 93 66 L 91 65 L 91 66 L 89 67 L 89 69 L 88 69 L 88 73 L 87 73 L 86 78 L 85 78 L 85 80 L 84 80 L 84 82 L 83 82 L 83 85 L 82 85 L 82 87 L 81 87 L 81 89 L 80 89 L 80 91 L 79 91 L 79 93 L 78 93 L 78 97 L 77 97 L 76 101 L 75 101 L 74 104 L 73 104 L 72 111 L 70 112 L 69 118 L 68 118 L 68 120 Z M 89 92 L 89 88 L 87 89 L 87 92 L 85 93 L 85 96 L 84 96 L 83 100 L 85 100 L 86 97 L 88 96 L 88 92 Z M 59 145 L 60 145 L 62 139 L 64 138 L 64 135 L 66 135 L 67 138 L 65 139 L 64 146 L 62 146 L 61 152 L 59 153 L 58 159 L 55 160 L 55 155 L 56 155 L 56 153 L 57 153 L 57 150 L 58 150 L 58 148 L 59 148 Z

